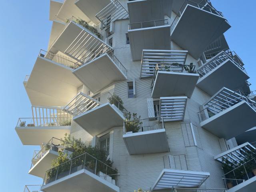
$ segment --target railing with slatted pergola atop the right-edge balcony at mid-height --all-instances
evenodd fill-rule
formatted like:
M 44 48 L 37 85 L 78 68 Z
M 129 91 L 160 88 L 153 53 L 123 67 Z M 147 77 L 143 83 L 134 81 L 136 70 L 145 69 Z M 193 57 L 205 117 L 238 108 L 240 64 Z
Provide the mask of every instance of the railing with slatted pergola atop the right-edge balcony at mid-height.
M 222 88 L 207 104 L 204 109 L 198 112 L 200 121 L 204 121 L 239 102 L 246 101 L 252 108 L 256 109 L 256 102 L 250 100 L 240 90 L 236 92 L 227 88 Z

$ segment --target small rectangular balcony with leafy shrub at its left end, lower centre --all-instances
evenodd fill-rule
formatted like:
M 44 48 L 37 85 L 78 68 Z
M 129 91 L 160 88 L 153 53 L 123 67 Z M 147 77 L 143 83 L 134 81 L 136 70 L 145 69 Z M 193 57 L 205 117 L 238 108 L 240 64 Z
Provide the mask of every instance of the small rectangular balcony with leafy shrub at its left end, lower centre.
M 163 117 L 125 121 L 123 139 L 131 155 L 169 151 Z

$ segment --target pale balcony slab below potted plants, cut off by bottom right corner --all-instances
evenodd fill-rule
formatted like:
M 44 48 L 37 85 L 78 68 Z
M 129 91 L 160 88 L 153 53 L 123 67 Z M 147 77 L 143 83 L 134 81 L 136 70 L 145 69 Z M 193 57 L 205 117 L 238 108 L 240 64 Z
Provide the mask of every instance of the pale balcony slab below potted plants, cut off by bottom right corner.
M 227 192 L 253 192 L 256 188 L 256 176 L 227 190 Z

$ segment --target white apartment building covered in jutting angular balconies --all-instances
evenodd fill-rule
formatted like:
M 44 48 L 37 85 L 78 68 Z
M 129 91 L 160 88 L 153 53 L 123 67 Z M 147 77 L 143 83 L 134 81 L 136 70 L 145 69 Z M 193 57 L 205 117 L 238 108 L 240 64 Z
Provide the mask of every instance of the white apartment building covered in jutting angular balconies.
M 256 97 L 224 37 L 231 26 L 209 0 L 50 0 L 50 20 L 48 50 L 23 82 L 32 118 L 15 128 L 23 145 L 41 146 L 28 172 L 42 178 L 37 190 L 255 191 L 255 159 L 222 168 L 255 150 Z M 88 154 L 78 158 L 95 170 L 72 167 L 78 158 L 68 172 L 51 168 L 58 150 L 72 153 L 66 133 L 106 150 L 118 171 Z

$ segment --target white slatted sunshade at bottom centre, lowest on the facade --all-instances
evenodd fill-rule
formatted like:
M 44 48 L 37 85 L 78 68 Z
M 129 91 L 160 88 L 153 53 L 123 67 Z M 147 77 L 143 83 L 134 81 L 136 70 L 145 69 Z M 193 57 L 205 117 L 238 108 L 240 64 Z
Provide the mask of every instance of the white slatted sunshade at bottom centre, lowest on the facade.
M 210 176 L 208 172 L 164 169 L 151 187 L 152 191 L 180 187 L 198 187 Z

